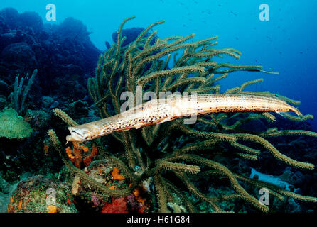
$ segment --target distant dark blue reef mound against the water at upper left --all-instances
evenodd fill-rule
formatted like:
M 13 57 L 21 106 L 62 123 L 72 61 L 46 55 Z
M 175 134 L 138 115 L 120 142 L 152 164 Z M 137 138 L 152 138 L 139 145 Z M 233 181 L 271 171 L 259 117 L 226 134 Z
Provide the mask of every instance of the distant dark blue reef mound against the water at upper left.
M 0 74 L 7 84 L 17 74 L 38 69 L 33 91 L 37 96 L 59 100 L 82 99 L 85 78 L 95 70 L 100 50 L 95 48 L 86 26 L 74 18 L 60 25 L 43 24 L 37 13 L 0 11 Z M 70 92 L 71 91 L 71 92 Z

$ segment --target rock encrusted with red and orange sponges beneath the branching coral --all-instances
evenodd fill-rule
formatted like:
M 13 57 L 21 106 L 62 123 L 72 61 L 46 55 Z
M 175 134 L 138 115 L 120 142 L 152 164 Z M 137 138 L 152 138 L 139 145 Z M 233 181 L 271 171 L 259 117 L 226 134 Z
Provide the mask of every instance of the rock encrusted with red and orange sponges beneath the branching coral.
M 122 175 L 117 167 L 109 160 L 97 160 L 84 172 L 96 182 L 111 190 L 119 190 L 128 187 L 131 183 Z M 92 192 L 90 187 L 81 184 L 80 178 L 75 177 L 72 182 L 72 198 L 76 204 L 81 204 L 81 209 L 99 211 L 102 213 L 144 213 L 151 209 L 151 196 L 145 189 L 136 189 L 133 193 L 115 198 Z

